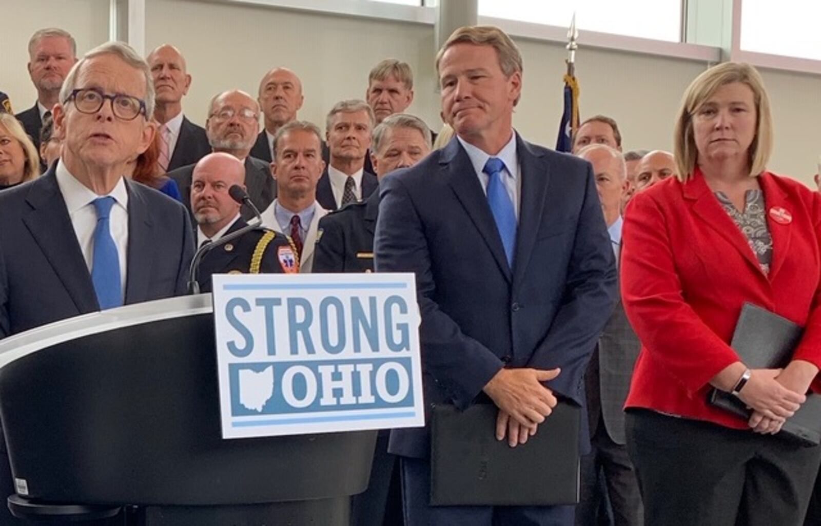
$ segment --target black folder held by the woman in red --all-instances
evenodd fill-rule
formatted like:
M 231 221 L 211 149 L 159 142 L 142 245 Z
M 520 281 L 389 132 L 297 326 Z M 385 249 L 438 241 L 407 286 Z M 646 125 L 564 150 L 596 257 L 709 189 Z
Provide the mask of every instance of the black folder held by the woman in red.
M 802 327 L 787 318 L 758 305 L 745 303 L 730 346 L 749 368 L 786 367 L 803 331 Z M 745 419 L 749 419 L 752 413 L 744 402 L 718 389 L 710 390 L 708 401 Z M 807 446 L 821 443 L 821 395 L 807 394 L 805 403 L 787 419 L 777 436 L 791 438 Z

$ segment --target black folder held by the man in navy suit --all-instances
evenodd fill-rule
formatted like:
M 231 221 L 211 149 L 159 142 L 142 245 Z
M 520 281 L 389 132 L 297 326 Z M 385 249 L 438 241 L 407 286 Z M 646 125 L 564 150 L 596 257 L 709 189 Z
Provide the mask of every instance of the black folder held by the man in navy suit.
M 434 406 L 430 504 L 576 504 L 580 407 L 560 401 L 516 447 L 496 440 L 497 414 L 493 404 Z

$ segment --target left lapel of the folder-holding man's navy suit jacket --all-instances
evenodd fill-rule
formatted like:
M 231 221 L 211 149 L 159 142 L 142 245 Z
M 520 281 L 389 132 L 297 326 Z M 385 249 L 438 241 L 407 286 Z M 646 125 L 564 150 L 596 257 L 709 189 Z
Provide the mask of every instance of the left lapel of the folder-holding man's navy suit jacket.
M 490 212 L 488 198 L 482 190 L 470 158 L 456 137 L 445 147 L 440 163 L 446 165 L 447 181 L 456 194 L 456 199 L 470 216 L 479 234 L 482 235 L 490 253 L 496 259 L 499 270 L 502 271 L 507 281 L 511 281 L 511 268 L 507 264 L 502 238 L 499 236 L 496 222 Z

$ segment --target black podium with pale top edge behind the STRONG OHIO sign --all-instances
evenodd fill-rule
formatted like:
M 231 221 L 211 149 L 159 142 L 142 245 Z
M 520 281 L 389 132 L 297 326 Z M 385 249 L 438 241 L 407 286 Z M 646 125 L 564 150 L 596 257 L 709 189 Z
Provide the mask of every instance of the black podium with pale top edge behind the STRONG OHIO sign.
M 0 341 L 12 513 L 95 519 L 137 506 L 145 526 L 346 525 L 377 432 L 223 440 L 216 360 L 210 295 Z

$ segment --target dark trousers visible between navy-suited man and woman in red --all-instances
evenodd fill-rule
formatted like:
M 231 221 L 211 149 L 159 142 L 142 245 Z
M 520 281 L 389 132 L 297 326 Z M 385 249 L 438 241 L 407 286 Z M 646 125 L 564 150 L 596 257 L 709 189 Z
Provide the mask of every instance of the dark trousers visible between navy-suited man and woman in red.
M 603 524 L 603 506 L 610 501 L 613 524 L 644 524 L 639 483 L 627 455 L 626 446 L 612 441 L 599 413 L 599 423 L 590 441 L 591 451 L 581 457 L 580 501 L 576 506 L 576 526 Z M 603 481 L 602 481 L 603 475 Z M 605 495 L 604 492 L 607 492 Z

